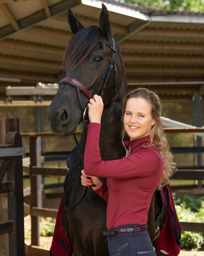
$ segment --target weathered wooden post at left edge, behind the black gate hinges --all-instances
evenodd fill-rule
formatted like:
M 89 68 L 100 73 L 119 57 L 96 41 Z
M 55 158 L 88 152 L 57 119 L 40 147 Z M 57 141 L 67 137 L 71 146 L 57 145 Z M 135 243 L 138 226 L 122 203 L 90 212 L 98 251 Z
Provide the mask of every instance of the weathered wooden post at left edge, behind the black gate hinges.
M 19 132 L 19 119 L 12 113 L 0 113 L 0 144 L 6 144 L 6 134 L 8 132 Z M 0 162 L 1 167 L 1 162 Z M 7 181 L 5 175 L 3 181 Z M 8 195 L 7 193 L 0 194 L 0 222 L 8 221 Z M 1 256 L 9 255 L 9 235 L 0 236 Z

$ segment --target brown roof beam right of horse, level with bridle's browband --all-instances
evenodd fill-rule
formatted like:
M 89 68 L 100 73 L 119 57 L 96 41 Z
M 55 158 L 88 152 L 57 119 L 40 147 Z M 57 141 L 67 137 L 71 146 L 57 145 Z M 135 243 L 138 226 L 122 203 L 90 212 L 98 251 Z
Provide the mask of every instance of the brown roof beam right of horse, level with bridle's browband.
M 188 51 L 204 53 L 204 43 L 167 43 L 167 42 L 137 42 L 124 41 L 120 44 L 121 50 L 162 50 L 164 51 Z

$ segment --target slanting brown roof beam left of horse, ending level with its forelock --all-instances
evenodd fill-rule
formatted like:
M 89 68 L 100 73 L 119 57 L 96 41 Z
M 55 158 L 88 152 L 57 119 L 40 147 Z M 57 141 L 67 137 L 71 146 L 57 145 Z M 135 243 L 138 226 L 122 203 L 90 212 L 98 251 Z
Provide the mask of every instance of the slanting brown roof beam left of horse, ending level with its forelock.
M 0 41 L 0 47 L 10 50 L 18 50 L 24 52 L 42 53 L 42 55 L 63 56 L 64 48 L 44 46 L 37 43 L 22 42 L 16 40 L 5 39 Z

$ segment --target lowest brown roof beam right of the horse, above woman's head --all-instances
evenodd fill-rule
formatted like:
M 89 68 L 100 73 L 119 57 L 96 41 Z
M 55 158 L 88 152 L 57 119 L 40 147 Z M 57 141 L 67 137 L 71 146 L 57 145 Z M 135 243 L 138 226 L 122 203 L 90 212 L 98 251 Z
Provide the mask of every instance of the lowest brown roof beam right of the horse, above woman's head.
M 172 67 L 172 66 L 125 66 L 127 73 L 154 73 L 154 74 L 185 74 L 185 75 L 200 75 L 203 77 L 203 67 Z

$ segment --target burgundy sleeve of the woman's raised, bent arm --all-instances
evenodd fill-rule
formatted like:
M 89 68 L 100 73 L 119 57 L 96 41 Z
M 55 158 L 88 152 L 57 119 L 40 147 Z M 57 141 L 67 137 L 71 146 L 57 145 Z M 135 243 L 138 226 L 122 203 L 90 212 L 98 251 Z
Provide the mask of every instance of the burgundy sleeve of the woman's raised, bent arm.
M 84 151 L 84 172 L 86 175 L 105 178 L 143 177 L 160 169 L 160 157 L 150 149 L 142 149 L 122 159 L 101 161 L 100 124 L 89 123 Z

